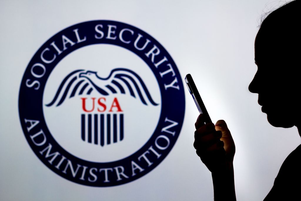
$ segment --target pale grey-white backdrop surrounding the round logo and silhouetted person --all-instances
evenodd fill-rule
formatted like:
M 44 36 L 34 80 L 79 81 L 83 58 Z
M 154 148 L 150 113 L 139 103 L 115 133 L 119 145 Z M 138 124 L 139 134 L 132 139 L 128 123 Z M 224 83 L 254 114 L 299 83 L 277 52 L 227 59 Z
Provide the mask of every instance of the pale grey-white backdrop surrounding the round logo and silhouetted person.
M 186 89 L 178 141 L 157 168 L 131 183 L 100 188 L 70 182 L 49 170 L 29 147 L 18 116 L 20 81 L 28 62 L 58 31 L 98 19 L 146 31 L 170 53 L 183 78 L 192 74 L 211 119 L 224 119 L 234 138 L 237 200 L 264 199 L 282 162 L 300 144 L 296 127 L 269 125 L 257 94 L 248 91 L 256 72 L 257 20 L 267 3 L 1 1 L 1 200 L 213 200 L 211 174 L 193 148 L 198 112 Z

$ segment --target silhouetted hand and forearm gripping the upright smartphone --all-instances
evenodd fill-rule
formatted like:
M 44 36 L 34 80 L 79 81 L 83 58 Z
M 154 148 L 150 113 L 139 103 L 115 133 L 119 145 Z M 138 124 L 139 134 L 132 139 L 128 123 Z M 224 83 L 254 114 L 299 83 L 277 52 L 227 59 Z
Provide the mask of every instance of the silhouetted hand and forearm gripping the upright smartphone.
M 206 123 L 203 115 L 197 118 L 194 148 L 212 173 L 214 200 L 236 200 L 233 158 L 235 145 L 224 120 Z

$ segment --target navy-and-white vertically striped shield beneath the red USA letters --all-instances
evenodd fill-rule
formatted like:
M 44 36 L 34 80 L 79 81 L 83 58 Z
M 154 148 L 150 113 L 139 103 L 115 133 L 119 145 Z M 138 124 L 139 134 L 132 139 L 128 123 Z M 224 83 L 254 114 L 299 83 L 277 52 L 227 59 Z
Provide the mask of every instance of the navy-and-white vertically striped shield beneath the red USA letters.
M 123 114 L 82 114 L 81 139 L 95 145 L 109 145 L 124 138 Z

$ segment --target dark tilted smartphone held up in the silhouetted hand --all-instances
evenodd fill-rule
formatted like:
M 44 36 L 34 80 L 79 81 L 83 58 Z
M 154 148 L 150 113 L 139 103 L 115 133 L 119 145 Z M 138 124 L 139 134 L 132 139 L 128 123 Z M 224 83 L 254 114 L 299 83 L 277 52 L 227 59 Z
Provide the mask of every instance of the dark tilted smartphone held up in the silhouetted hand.
M 197 105 L 197 109 L 199 110 L 200 114 L 204 115 L 204 119 L 206 123 L 212 123 L 210 116 L 206 110 L 206 107 L 202 101 L 202 98 L 197 91 L 197 87 L 194 84 L 194 81 L 190 74 L 187 74 L 185 77 L 186 86 L 188 88 L 189 93 L 191 94 L 195 104 Z

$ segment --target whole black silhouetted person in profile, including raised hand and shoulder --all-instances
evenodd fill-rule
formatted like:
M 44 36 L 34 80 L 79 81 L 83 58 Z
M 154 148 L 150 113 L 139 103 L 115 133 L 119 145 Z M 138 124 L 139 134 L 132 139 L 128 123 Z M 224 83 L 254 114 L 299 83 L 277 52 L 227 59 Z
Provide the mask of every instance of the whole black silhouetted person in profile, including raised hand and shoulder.
M 255 63 L 258 70 L 249 86 L 250 92 L 258 94 L 258 104 L 262 106 L 262 112 L 267 114 L 270 124 L 283 128 L 296 126 L 299 135 L 300 9 L 301 0 L 295 0 L 271 12 L 262 22 L 255 39 Z M 215 125 L 204 124 L 203 116 L 200 115 L 195 126 L 194 147 L 212 172 L 215 200 L 235 200 L 235 145 L 225 121 L 219 120 Z M 300 199 L 300 161 L 301 145 L 282 164 L 265 200 Z

